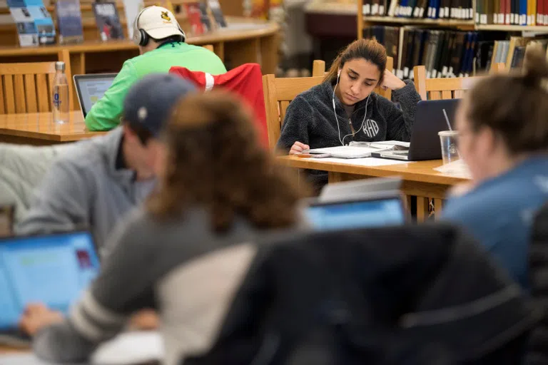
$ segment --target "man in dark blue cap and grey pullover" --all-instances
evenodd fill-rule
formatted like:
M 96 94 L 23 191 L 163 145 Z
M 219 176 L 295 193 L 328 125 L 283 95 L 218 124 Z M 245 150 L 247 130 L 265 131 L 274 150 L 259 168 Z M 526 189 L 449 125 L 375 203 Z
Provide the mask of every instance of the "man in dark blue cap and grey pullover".
M 170 74 L 151 74 L 135 83 L 124 101 L 121 126 L 78 142 L 54 163 L 36 190 L 20 235 L 87 227 L 100 254 L 116 222 L 153 190 L 158 135 L 171 108 L 194 86 Z

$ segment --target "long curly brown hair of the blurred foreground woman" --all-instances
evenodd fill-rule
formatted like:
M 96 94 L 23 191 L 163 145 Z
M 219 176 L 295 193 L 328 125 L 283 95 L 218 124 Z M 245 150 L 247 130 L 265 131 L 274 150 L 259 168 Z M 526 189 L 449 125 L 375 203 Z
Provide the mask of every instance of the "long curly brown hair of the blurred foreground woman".
M 213 230 L 228 230 L 236 215 L 261 229 L 298 220 L 298 200 L 308 187 L 276 166 L 258 143 L 251 115 L 223 91 L 186 96 L 174 107 L 164 132 L 166 173 L 148 211 L 158 219 L 199 205 Z

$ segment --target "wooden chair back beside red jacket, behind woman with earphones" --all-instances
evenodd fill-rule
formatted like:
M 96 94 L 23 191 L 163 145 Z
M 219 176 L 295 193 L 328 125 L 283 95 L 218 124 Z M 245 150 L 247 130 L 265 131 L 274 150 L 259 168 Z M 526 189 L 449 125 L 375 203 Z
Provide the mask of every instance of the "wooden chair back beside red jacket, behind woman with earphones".
M 280 138 L 280 130 L 285 118 L 285 110 L 290 101 L 303 91 L 319 85 L 323 76 L 275 78 L 274 75 L 263 76 L 263 93 L 265 95 L 266 126 L 268 145 L 275 148 Z

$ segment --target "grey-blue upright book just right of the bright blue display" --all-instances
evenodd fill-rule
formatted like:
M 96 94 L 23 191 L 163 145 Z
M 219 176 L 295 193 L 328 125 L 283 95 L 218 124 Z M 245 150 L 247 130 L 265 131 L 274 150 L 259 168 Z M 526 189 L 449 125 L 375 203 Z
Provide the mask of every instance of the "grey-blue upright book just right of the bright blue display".
M 79 0 L 57 0 L 55 3 L 59 43 L 83 41 L 82 14 Z

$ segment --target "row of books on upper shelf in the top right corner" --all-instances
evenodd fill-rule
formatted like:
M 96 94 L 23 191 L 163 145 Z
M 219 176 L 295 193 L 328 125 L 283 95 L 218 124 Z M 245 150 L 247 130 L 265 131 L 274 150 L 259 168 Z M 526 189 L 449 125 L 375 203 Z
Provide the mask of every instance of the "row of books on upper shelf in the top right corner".
M 477 0 L 477 24 L 548 25 L 548 0 Z

